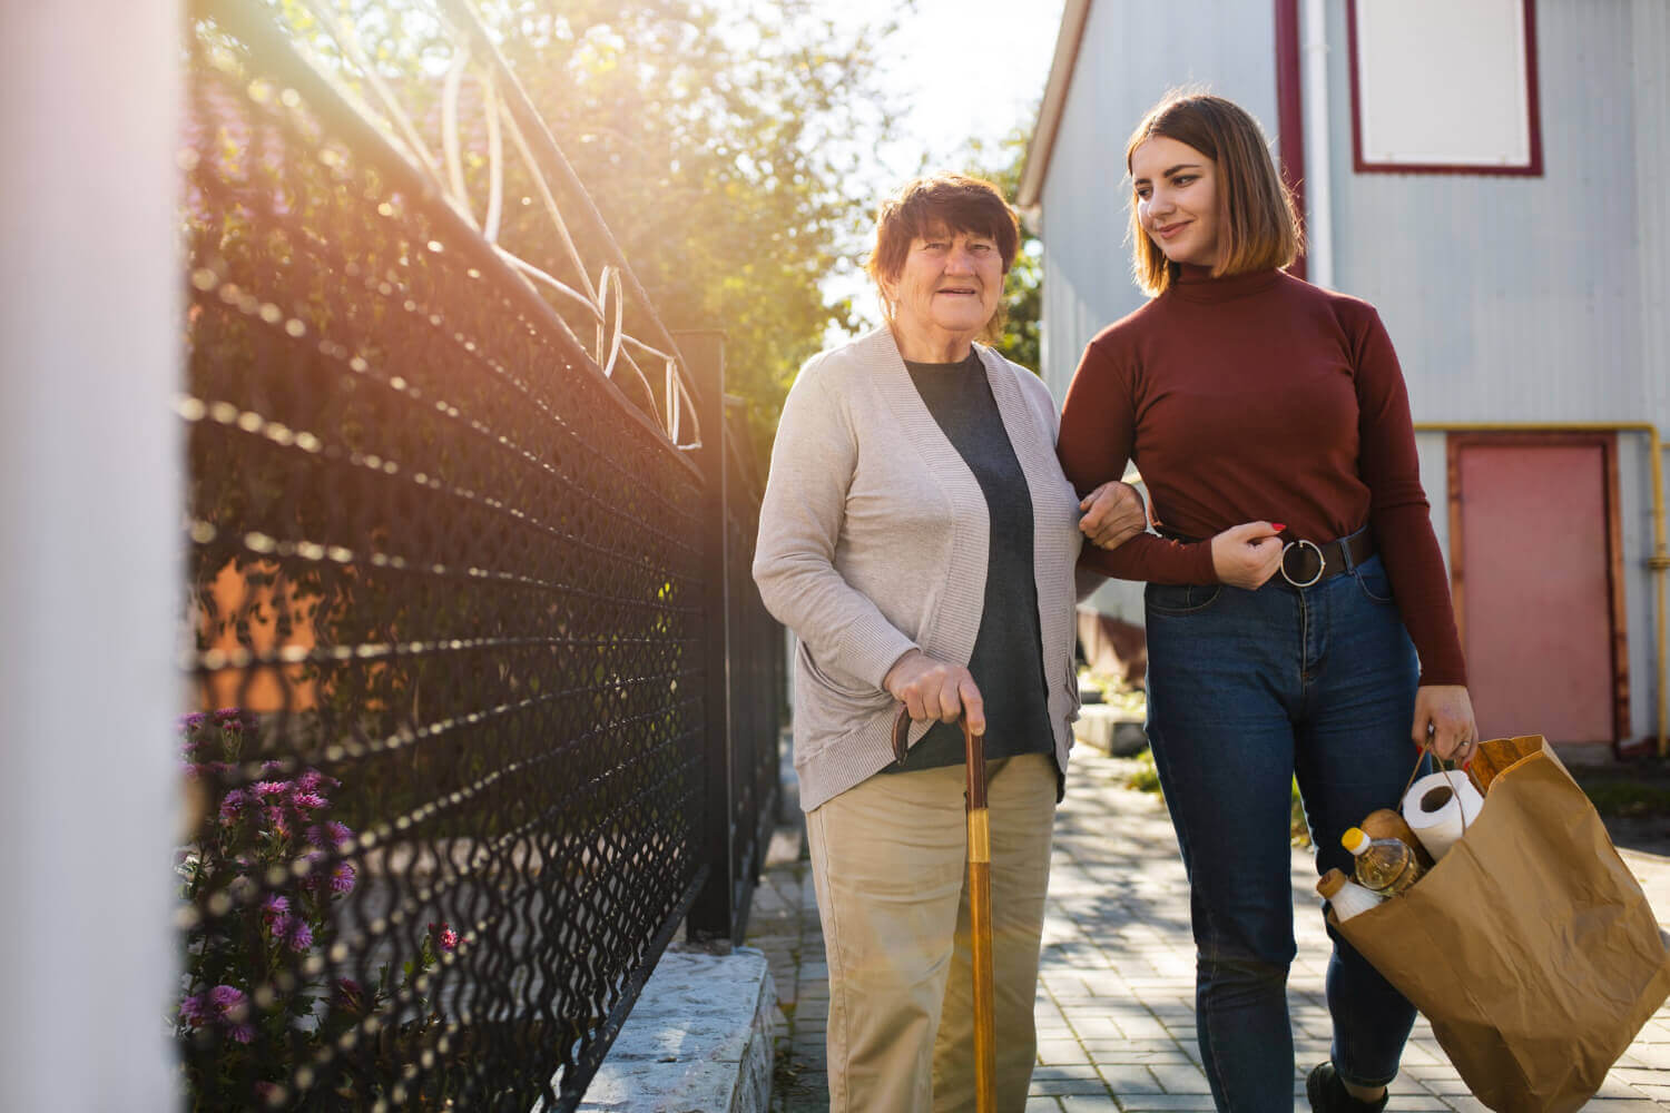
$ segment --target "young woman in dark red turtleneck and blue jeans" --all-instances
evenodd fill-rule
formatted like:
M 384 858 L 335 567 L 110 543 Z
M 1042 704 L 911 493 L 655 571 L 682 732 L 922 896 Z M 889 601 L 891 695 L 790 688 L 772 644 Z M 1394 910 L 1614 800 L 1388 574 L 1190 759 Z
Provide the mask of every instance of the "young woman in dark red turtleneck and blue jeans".
M 1411 736 L 1473 753 L 1466 669 L 1398 357 L 1371 305 L 1281 270 L 1298 220 L 1258 123 L 1174 95 L 1126 165 L 1152 300 L 1086 349 L 1059 452 L 1080 492 L 1127 457 L 1147 482 L 1159 536 L 1084 562 L 1147 581 L 1147 733 L 1189 871 L 1212 1096 L 1286 1111 L 1291 779 L 1318 869 L 1349 869 L 1339 836 L 1396 804 Z M 1414 1010 L 1338 936 L 1328 1006 L 1313 1108 L 1383 1108 Z

